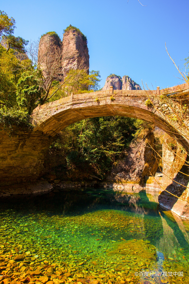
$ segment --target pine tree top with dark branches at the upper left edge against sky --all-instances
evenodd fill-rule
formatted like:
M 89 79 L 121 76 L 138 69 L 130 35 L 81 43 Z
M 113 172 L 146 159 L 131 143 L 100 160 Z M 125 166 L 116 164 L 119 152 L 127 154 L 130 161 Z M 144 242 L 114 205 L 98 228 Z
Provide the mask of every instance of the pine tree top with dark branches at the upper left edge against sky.
M 4 11 L 0 11 L 1 44 L 7 49 L 7 52 L 10 50 L 10 48 L 12 48 L 21 53 L 25 53 L 25 45 L 27 45 L 28 41 L 22 37 L 13 36 L 15 28 L 16 26 L 14 18 L 9 18 Z

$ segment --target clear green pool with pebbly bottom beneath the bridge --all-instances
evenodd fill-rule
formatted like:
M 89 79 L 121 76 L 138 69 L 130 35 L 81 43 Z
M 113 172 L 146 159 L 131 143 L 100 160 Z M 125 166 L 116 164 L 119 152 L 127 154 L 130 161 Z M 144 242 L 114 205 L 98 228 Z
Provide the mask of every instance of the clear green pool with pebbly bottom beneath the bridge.
M 24 254 L 31 271 L 52 264 L 67 283 L 189 283 L 189 221 L 157 197 L 81 188 L 1 199 L 0 261 Z

